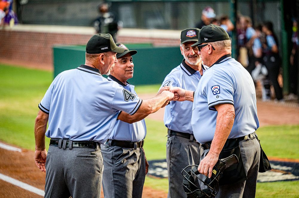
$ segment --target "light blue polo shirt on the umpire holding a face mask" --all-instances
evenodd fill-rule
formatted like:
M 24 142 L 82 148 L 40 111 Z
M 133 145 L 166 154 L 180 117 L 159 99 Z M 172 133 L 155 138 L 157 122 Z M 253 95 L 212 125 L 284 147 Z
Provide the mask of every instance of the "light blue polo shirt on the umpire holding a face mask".
M 260 126 L 252 77 L 230 54 L 211 66 L 196 88 L 191 124 L 194 137 L 200 143 L 213 140 L 218 114 L 214 106 L 224 103 L 235 108 L 228 139 L 253 133 Z

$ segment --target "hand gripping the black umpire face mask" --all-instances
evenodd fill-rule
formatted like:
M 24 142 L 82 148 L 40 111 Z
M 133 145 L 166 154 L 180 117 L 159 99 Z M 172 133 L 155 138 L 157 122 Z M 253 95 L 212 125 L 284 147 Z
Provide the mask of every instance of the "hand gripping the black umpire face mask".
M 217 163 L 219 155 L 214 155 L 208 153 L 205 158 L 203 158 L 198 166 L 198 171 L 205 176 L 209 175 L 209 178 L 212 176 L 212 170 L 215 164 Z

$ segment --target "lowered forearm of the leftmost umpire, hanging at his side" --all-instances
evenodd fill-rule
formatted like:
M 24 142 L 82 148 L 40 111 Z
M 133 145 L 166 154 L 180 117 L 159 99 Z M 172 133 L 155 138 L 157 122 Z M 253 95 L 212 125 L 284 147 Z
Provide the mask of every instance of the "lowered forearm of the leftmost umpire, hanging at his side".
M 42 151 L 45 149 L 45 133 L 47 130 L 48 114 L 39 111 L 35 119 L 34 137 L 35 149 Z

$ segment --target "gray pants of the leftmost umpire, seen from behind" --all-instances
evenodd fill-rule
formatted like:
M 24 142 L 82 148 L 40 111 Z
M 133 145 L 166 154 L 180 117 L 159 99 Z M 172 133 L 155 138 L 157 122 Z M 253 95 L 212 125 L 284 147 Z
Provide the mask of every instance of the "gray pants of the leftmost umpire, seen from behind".
M 99 146 L 98 149 L 50 146 L 46 161 L 45 197 L 100 197 L 102 168 Z

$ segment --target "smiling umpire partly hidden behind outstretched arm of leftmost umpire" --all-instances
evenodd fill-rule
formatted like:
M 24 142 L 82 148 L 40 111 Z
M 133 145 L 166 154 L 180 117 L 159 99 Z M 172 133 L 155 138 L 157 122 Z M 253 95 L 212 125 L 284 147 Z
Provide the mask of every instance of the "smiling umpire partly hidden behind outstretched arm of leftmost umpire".
M 125 51 L 116 54 L 118 62 L 111 70 L 108 80 L 117 82 L 120 87 L 137 96 L 134 85 L 127 82 L 133 77 L 132 55 L 137 51 L 129 50 L 122 43 L 117 43 L 116 46 L 122 47 Z M 142 197 L 145 174 L 148 170 L 148 163 L 142 148 L 145 135 L 144 119 L 132 124 L 121 120 L 116 121 L 106 144 L 101 145 L 105 198 Z

